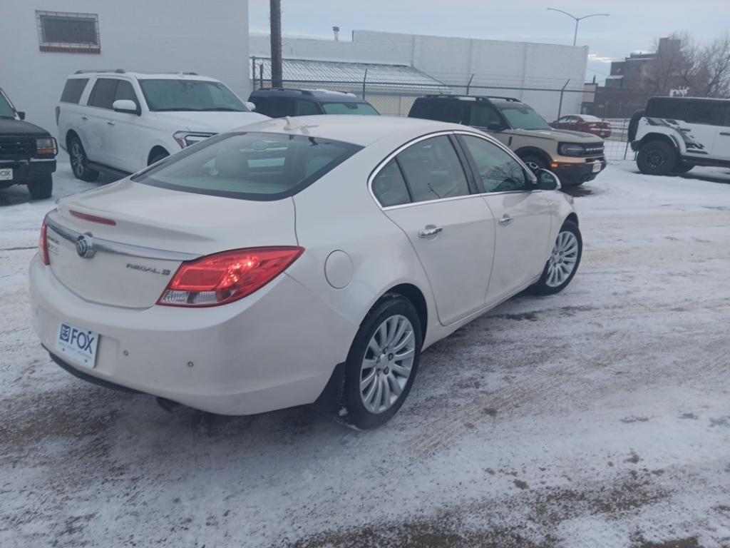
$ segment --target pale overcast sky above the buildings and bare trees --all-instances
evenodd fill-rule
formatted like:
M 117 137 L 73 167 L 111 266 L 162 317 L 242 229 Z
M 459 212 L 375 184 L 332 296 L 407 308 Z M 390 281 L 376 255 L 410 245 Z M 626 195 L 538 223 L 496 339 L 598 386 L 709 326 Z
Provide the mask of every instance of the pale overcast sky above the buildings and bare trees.
M 337 25 L 341 39 L 369 30 L 572 44 L 575 22 L 547 7 L 610 14 L 580 22 L 577 45 L 591 47 L 587 80 L 602 80 L 607 61 L 652 50 L 656 37 L 712 39 L 730 28 L 730 0 L 282 0 L 283 33 L 331 38 Z M 269 1 L 249 0 L 249 12 L 250 30 L 268 32 Z

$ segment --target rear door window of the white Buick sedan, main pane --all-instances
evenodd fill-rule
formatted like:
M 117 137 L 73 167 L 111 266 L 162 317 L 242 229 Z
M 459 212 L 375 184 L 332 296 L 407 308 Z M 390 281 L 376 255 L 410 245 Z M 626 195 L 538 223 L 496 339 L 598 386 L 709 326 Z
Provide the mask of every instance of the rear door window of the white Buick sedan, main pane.
M 464 167 L 445 135 L 417 142 L 396 157 L 413 202 L 470 193 Z

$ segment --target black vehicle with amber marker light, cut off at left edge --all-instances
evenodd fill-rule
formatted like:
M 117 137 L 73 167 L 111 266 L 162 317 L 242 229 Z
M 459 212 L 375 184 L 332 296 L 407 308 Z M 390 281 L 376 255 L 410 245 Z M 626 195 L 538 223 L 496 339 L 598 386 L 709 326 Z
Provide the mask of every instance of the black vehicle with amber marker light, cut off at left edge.
M 25 118 L 0 88 L 0 189 L 27 185 L 31 198 L 49 198 L 58 151 L 55 139 Z

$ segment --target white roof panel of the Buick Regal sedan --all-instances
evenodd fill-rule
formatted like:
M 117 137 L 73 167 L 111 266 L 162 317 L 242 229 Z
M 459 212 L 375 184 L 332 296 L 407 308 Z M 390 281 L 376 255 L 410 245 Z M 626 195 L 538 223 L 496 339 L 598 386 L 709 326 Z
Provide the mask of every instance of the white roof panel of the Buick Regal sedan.
M 289 121 L 291 120 L 291 126 Z M 288 129 L 291 127 L 291 129 Z M 320 114 L 272 118 L 243 126 L 234 131 L 264 132 L 285 135 L 305 135 L 367 146 L 383 137 L 398 136 L 403 142 L 439 131 L 479 133 L 459 123 L 437 122 L 421 118 L 395 116 L 358 116 Z

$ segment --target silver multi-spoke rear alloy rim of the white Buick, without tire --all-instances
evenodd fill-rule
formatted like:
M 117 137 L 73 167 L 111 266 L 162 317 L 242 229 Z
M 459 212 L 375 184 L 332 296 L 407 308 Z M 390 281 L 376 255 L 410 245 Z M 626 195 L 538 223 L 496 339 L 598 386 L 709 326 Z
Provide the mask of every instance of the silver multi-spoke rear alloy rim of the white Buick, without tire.
M 360 397 L 371 413 L 383 413 L 398 401 L 411 376 L 415 343 L 405 316 L 391 316 L 375 330 L 360 368 Z

